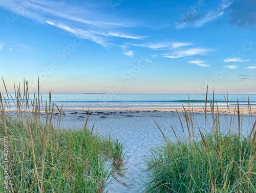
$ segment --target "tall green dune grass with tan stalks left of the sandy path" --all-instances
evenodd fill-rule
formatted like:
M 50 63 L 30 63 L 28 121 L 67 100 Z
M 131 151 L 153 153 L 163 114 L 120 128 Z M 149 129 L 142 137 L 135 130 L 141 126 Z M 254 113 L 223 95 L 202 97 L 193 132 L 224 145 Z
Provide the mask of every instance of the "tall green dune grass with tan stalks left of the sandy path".
M 0 181 L 8 179 L 8 186 L 0 185 L 0 192 L 105 192 L 110 176 L 117 177 L 124 166 L 124 152 L 120 141 L 105 138 L 84 129 L 60 129 L 53 125 L 53 115 L 61 108 L 41 96 L 29 96 L 28 83 L 24 92 L 18 86 L 15 96 L 7 90 L 0 93 L 1 150 L 8 141 L 8 156 L 0 155 Z M 10 100 L 15 112 L 10 113 Z M 9 109 L 10 110 L 10 109 Z M 5 173 L 5 158 L 8 175 Z M 113 179 L 113 177 L 112 177 Z

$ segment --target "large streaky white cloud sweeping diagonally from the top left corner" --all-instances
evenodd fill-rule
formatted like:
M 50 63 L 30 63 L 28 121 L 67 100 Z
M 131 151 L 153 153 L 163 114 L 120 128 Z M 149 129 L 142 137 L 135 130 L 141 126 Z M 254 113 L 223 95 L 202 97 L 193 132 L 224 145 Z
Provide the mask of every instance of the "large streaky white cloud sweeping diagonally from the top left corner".
M 0 0 L 0 6 L 21 16 L 36 20 L 42 24 L 55 26 L 69 32 L 73 36 L 89 39 L 107 47 L 112 45 L 108 37 L 143 39 L 144 36 L 127 35 L 117 31 L 118 28 L 131 27 L 134 23 L 108 17 L 95 5 L 81 4 L 81 7 L 70 5 L 69 2 L 56 1 L 22 1 L 6 2 Z M 98 6 L 98 4 L 97 4 Z M 18 9 L 19 8 L 19 9 Z

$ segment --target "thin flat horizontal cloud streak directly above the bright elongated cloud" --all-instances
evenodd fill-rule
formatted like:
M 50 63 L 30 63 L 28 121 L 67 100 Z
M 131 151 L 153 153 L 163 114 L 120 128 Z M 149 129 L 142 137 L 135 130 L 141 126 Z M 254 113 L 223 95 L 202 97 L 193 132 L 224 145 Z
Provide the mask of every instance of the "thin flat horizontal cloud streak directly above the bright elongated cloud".
M 134 46 L 139 47 L 147 47 L 148 49 L 152 50 L 170 50 L 178 47 L 184 47 L 192 45 L 190 42 L 172 42 L 172 41 L 165 41 L 165 42 L 150 42 L 144 44 L 132 44 Z

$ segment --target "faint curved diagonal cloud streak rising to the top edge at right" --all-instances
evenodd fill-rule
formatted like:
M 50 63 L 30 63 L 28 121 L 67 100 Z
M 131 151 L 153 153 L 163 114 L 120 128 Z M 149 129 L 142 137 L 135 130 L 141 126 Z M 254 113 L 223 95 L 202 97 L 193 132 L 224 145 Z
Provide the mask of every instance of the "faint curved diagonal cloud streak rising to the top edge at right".
M 186 27 L 201 27 L 205 23 L 222 16 L 233 2 L 234 0 L 223 0 L 215 10 L 208 11 L 206 14 L 198 15 L 194 18 L 187 18 L 186 22 L 177 22 L 175 27 L 177 29 L 183 29 Z

